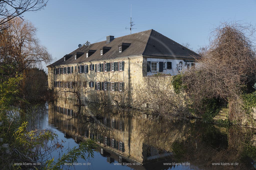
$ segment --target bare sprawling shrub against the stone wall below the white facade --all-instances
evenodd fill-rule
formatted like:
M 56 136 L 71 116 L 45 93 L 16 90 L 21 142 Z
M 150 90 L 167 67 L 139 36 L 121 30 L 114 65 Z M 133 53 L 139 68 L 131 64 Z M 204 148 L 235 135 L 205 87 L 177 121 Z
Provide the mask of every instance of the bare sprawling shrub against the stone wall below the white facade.
M 145 77 L 139 85 L 137 104 L 158 117 L 191 117 L 188 101 L 182 93 L 176 94 L 172 88 L 172 76 L 153 75 Z M 140 102 L 139 102 L 140 101 Z

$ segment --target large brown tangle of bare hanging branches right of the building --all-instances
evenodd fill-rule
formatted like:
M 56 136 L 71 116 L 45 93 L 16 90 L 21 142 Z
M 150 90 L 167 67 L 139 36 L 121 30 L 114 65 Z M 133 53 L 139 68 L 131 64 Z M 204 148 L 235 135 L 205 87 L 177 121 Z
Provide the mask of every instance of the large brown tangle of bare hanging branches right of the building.
M 255 91 L 254 32 L 250 24 L 225 22 L 211 33 L 208 50 L 197 67 L 183 76 L 195 108 L 200 108 L 205 99 L 222 98 L 229 101 L 229 118 L 238 122 L 243 119 L 241 95 Z

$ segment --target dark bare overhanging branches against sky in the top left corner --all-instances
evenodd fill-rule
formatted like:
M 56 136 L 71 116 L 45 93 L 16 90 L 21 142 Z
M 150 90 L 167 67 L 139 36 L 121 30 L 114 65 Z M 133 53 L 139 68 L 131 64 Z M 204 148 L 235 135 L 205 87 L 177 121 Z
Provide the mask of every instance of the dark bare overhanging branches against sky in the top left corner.
M 22 14 L 28 11 L 44 9 L 48 1 L 44 0 L 1 0 L 0 1 L 0 25 L 7 24 L 15 17 L 22 18 Z

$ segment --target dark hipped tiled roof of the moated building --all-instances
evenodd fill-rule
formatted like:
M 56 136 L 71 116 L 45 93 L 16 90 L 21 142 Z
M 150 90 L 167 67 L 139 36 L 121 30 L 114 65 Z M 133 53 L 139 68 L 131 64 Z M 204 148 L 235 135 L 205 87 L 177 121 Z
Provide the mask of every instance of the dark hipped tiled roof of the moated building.
M 130 46 L 119 53 L 118 46 L 122 43 L 129 43 Z M 110 50 L 104 55 L 100 55 L 100 49 L 103 47 L 110 47 Z M 86 58 L 86 53 L 91 50 L 96 50 L 94 54 Z M 82 56 L 74 59 L 76 53 L 84 53 Z M 158 57 L 170 57 L 170 58 L 184 58 L 184 59 L 194 59 L 200 56 L 194 51 L 183 47 L 179 43 L 171 40 L 170 38 L 158 33 L 155 30 L 146 30 L 131 35 L 125 35 L 122 37 L 117 37 L 110 43 L 106 44 L 106 41 L 101 41 L 98 43 L 93 43 L 89 47 L 82 46 L 80 49 L 76 49 L 69 55 L 73 55 L 66 61 L 62 57 L 58 61 L 50 64 L 47 67 L 59 66 L 65 64 L 75 64 L 83 62 L 92 62 L 99 60 L 108 59 L 118 59 L 123 57 L 131 56 L 158 56 Z

